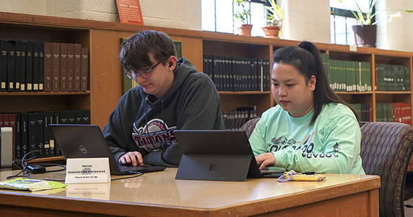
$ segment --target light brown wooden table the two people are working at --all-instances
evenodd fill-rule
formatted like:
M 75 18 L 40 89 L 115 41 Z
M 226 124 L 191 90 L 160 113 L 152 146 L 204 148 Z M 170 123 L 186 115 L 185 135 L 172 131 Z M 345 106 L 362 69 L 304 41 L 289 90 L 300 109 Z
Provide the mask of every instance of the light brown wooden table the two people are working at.
M 16 173 L 0 172 L 0 180 Z M 321 182 L 279 183 L 176 180 L 175 174 L 167 168 L 65 189 L 0 189 L 0 216 L 379 216 L 379 176 L 326 174 Z M 64 179 L 65 172 L 32 177 Z

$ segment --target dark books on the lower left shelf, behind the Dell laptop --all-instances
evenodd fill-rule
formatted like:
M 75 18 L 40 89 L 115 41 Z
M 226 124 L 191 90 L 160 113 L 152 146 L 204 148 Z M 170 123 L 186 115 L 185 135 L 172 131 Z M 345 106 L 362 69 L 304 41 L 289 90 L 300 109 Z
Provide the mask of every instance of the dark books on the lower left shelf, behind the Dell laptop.
M 59 146 L 48 127 L 51 123 L 90 124 L 90 110 L 0 114 L 0 127 L 12 127 L 14 159 L 21 159 L 33 150 L 41 151 L 38 158 L 61 156 Z

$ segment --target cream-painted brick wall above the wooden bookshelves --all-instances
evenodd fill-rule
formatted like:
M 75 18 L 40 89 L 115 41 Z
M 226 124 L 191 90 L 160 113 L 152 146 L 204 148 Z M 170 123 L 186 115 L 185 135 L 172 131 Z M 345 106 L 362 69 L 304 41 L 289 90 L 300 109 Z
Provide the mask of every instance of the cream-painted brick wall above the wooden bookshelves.
M 283 0 L 284 39 L 330 43 L 328 0 Z M 201 30 L 201 0 L 140 0 L 145 25 Z M 412 8 L 412 0 L 378 0 L 377 8 Z M 0 0 L 0 11 L 118 22 L 116 0 Z M 379 17 L 378 17 L 379 19 Z M 413 14 L 378 26 L 377 48 L 413 52 Z

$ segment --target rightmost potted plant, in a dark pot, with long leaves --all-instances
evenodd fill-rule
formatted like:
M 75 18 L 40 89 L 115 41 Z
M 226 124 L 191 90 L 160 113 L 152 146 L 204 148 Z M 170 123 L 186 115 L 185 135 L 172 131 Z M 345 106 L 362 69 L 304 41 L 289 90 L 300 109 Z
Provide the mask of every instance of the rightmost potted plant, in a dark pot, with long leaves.
M 336 0 L 341 3 L 343 1 L 341 0 Z M 388 15 L 387 17 L 384 17 L 383 19 L 379 19 L 378 21 L 374 21 L 372 23 L 372 19 L 376 17 L 377 14 L 380 14 L 381 12 L 389 11 L 389 10 L 403 10 L 405 12 L 413 12 L 413 10 L 404 10 L 404 9 L 385 9 L 385 10 L 379 10 L 378 12 L 373 13 L 374 5 L 376 4 L 377 0 L 370 0 L 370 7 L 368 9 L 368 12 L 366 14 L 363 14 L 363 11 L 361 11 L 361 8 L 359 6 L 359 3 L 357 3 L 357 0 L 354 0 L 356 10 L 355 12 L 352 11 L 354 14 L 354 17 L 357 19 L 359 25 L 352 25 L 352 30 L 354 32 L 354 41 L 356 42 L 356 45 L 358 47 L 370 47 L 370 48 L 376 48 L 376 37 L 377 37 L 377 23 L 381 21 L 388 20 L 389 22 L 392 21 L 393 18 L 399 18 L 401 17 L 401 12 L 397 11 L 393 14 Z

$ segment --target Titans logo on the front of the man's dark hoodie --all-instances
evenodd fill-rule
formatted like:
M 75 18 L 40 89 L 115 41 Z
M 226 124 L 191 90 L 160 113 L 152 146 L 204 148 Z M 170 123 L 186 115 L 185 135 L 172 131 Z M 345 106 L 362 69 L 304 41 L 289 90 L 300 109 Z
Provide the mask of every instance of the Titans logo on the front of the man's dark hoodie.
M 176 141 L 175 127 L 168 127 L 161 119 L 155 118 L 149 121 L 146 125 L 136 128 L 134 123 L 134 132 L 132 137 L 138 147 L 144 147 L 147 151 L 158 151 L 166 149 Z

